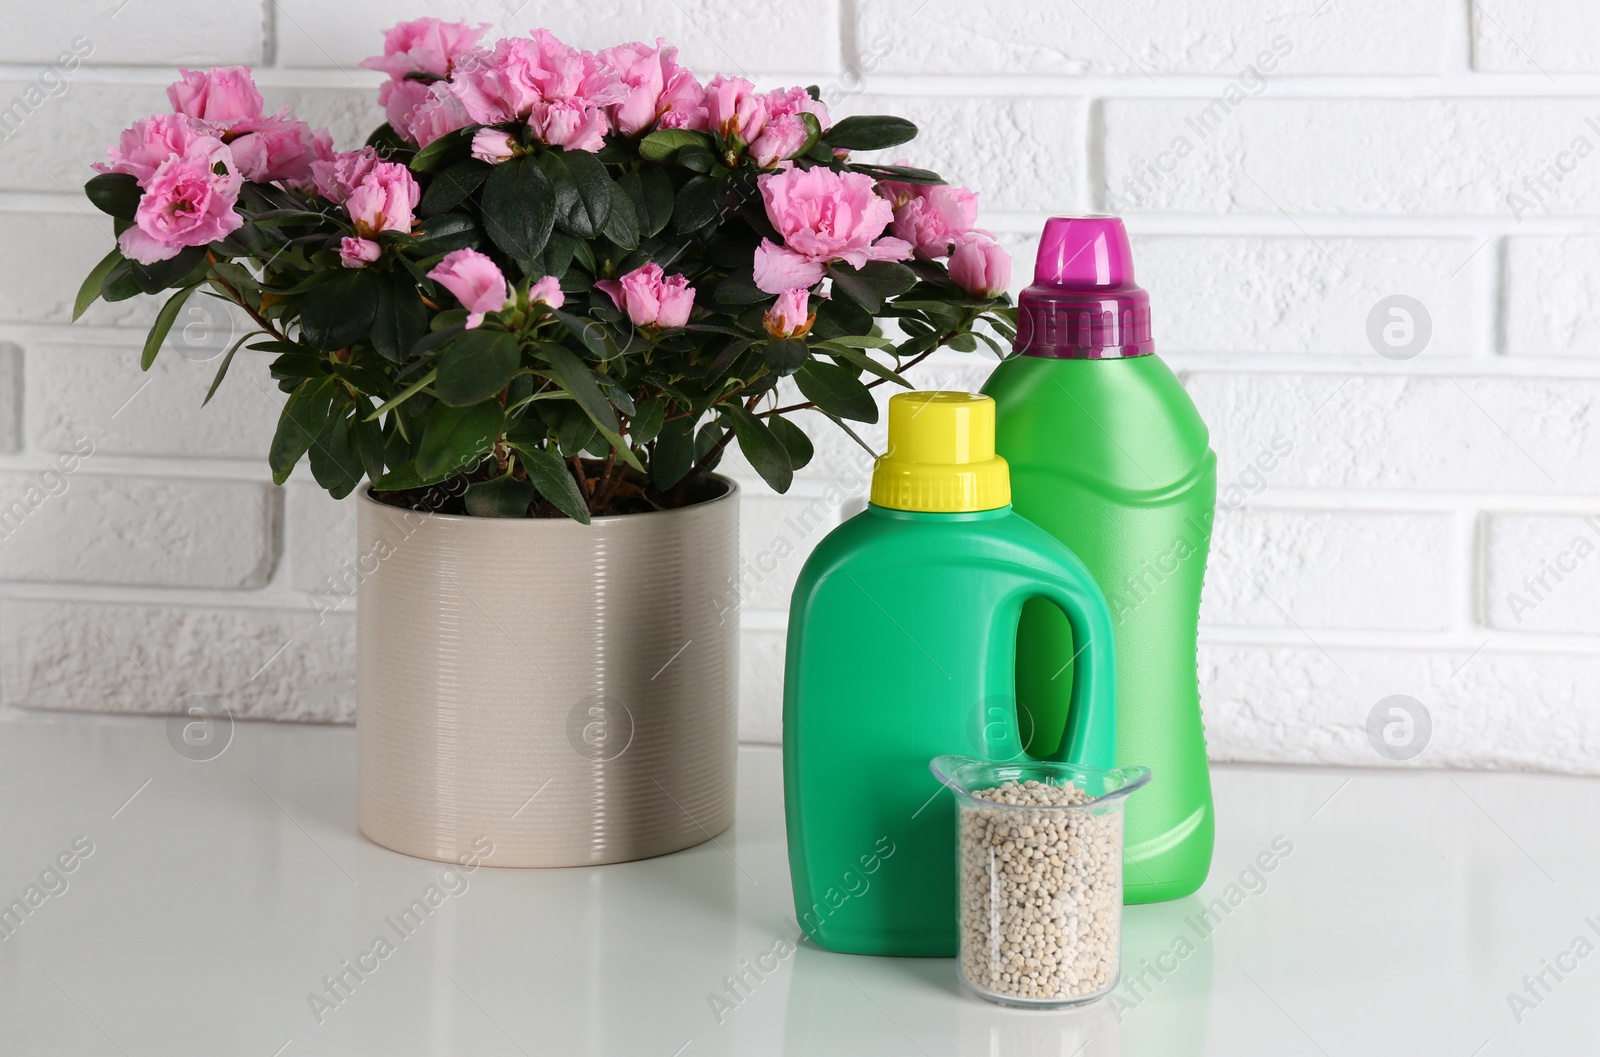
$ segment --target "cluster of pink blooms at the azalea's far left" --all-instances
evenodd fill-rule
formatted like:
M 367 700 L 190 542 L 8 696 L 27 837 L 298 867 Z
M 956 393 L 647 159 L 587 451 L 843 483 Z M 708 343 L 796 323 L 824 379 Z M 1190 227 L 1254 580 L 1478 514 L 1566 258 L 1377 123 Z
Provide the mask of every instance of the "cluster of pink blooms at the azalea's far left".
M 245 181 L 307 187 L 314 163 L 333 155 L 326 130 L 312 131 L 288 107 L 264 114 L 242 66 L 182 70 L 166 98 L 171 114 L 134 122 L 107 149 L 110 162 L 94 165 L 133 176 L 144 190 L 133 225 L 117 240 L 139 264 L 238 230 L 234 203 Z

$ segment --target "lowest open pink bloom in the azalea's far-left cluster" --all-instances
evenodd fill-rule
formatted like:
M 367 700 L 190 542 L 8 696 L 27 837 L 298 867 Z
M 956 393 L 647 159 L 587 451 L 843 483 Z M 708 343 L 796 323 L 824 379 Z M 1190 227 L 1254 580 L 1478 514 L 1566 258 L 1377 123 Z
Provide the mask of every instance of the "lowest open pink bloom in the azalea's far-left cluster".
M 221 173 L 216 168 L 222 168 Z M 222 142 L 194 139 L 184 154 L 157 166 L 139 198 L 139 208 L 117 245 L 139 264 L 178 256 L 184 246 L 203 246 L 237 232 L 245 222 L 234 211 L 238 170 Z

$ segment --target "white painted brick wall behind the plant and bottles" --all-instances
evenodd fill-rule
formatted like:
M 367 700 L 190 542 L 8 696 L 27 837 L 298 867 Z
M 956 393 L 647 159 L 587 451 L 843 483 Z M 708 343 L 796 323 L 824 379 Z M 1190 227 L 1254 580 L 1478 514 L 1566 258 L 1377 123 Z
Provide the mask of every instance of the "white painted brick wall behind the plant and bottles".
M 814 80 L 837 114 L 912 117 L 925 142 L 893 154 L 982 192 L 1018 288 L 1045 216 L 1125 213 L 1157 344 L 1219 457 L 1213 755 L 1384 764 L 1366 718 L 1406 694 L 1432 720 L 1416 763 L 1600 772 L 1600 553 L 1579 544 L 1600 548 L 1600 16 L 1490 6 L 45 5 L 0 42 L 0 110 L 26 104 L 0 141 L 0 528 L 26 510 L 0 539 L 0 712 L 166 712 L 198 692 L 349 720 L 354 603 L 317 612 L 339 603 L 350 504 L 270 486 L 259 358 L 198 408 L 229 320 L 186 320 L 149 374 L 152 302 L 67 325 L 110 238 L 77 187 L 178 64 L 264 64 L 269 106 L 358 142 L 379 110 L 357 62 L 382 26 L 434 13 L 584 46 L 661 34 L 702 74 Z M 93 48 L 67 70 L 78 37 Z M 1426 313 L 1416 355 L 1381 341 L 1394 296 Z M 941 353 L 917 377 L 976 387 L 990 365 Z M 781 734 L 803 555 L 866 493 L 862 453 L 814 432 L 790 496 L 725 464 L 747 486 L 750 740 Z M 93 456 L 34 504 L 80 438 Z

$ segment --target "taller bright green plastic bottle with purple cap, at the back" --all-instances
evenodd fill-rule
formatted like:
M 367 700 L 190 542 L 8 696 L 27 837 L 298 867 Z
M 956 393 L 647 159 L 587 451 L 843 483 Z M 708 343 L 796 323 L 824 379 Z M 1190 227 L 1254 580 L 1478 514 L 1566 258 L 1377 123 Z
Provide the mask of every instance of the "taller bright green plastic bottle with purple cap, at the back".
M 1117 636 L 1117 766 L 1150 785 L 1128 801 L 1125 900 L 1178 899 L 1211 868 L 1211 776 L 1195 672 L 1216 456 L 1194 401 L 1154 355 L 1149 294 L 1117 217 L 1051 217 L 1021 297 L 1014 355 L 984 392 L 1018 513 L 1094 572 Z M 1027 606 L 1018 699 L 1048 753 L 1072 699 L 1082 635 Z

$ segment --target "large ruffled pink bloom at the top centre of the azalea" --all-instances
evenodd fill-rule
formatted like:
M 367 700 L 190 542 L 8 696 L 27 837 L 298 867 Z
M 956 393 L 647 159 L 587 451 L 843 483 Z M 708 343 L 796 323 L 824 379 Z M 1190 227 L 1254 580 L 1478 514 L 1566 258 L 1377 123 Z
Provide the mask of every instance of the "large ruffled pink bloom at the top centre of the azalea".
M 536 29 L 531 40 L 499 40 L 493 50 L 475 48 L 462 56 L 450 91 L 480 125 L 531 117 L 534 131 L 542 134 L 552 130 L 562 138 L 560 146 L 594 142 L 595 115 L 590 112 L 598 112 L 603 136 L 610 128 L 605 107 L 627 98 L 627 86 L 616 70 L 542 29 Z M 541 104 L 563 106 L 552 114 Z

